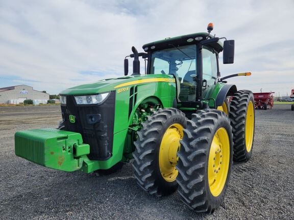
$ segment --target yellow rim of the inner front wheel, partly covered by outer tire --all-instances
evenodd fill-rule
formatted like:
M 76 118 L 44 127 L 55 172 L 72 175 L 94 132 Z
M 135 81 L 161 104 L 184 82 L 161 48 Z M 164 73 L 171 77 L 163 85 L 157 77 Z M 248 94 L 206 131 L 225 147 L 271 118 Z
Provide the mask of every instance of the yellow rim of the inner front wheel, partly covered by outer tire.
M 170 125 L 161 140 L 159 149 L 159 169 L 163 179 L 173 182 L 178 176 L 176 165 L 178 163 L 177 152 L 180 149 L 180 140 L 183 139 L 183 126 L 175 123 Z

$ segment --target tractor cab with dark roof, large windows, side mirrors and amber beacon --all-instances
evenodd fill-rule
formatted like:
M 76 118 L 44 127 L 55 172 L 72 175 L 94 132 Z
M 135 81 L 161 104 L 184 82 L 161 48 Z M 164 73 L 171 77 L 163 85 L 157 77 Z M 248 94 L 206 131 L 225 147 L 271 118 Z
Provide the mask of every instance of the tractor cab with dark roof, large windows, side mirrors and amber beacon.
M 234 40 L 226 40 L 223 45 L 220 42 L 222 38 L 210 34 L 212 29 L 213 25 L 210 23 L 208 33 L 166 38 L 143 45 L 146 53 L 136 53 L 135 50 L 135 53 L 130 55 L 135 58 L 133 74 L 139 73 L 139 61 L 136 57 L 142 56 L 148 60 L 146 74 L 164 74 L 175 78 L 177 106 L 202 108 L 203 100 L 209 99 L 220 79 L 219 52 L 225 50 L 224 64 L 234 62 Z M 134 51 L 134 47 L 132 50 Z

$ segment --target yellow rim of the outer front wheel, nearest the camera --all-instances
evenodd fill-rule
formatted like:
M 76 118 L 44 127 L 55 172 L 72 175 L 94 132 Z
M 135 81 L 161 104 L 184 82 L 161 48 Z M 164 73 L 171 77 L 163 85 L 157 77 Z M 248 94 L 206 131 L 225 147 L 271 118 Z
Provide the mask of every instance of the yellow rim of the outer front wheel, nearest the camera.
M 208 159 L 208 184 L 211 194 L 222 193 L 230 165 L 230 141 L 225 128 L 219 128 L 213 136 Z

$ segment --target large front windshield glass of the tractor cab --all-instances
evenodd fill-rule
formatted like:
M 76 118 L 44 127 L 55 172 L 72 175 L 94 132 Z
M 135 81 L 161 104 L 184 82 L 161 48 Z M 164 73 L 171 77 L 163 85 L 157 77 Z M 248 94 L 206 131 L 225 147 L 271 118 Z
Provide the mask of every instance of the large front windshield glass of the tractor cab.
M 178 101 L 194 101 L 196 45 L 174 47 L 152 53 L 150 74 L 173 74 L 177 79 Z

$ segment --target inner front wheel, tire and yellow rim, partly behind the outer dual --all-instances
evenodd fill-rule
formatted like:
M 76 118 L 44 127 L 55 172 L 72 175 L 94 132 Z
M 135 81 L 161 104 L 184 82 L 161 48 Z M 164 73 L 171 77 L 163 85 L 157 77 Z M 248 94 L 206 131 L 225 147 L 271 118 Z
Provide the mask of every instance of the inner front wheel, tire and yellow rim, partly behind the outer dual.
M 133 168 L 137 183 L 147 193 L 158 197 L 169 195 L 178 187 L 176 164 L 174 167 L 165 169 L 167 170 L 165 174 L 163 173 L 163 166 L 160 166 L 160 162 L 162 164 L 162 159 L 160 160 L 160 155 L 162 155 L 160 151 L 163 146 L 162 140 L 167 142 L 165 146 L 168 147 L 169 137 L 165 135 L 169 134 L 169 129 L 171 129 L 171 132 L 177 129 L 176 127 L 171 128 L 174 125 L 181 126 L 183 133 L 183 128 L 187 126 L 185 114 L 177 108 L 161 109 L 153 113 L 153 115 L 148 117 L 148 120 L 142 123 L 142 128 L 138 132 L 138 140 L 135 142 L 136 150 L 133 153 L 135 159 Z M 170 136 L 172 134 L 174 133 L 170 133 Z M 173 138 L 174 136 L 171 136 L 170 140 Z M 180 139 L 175 140 L 178 142 L 176 147 L 179 147 Z M 169 155 L 169 151 L 167 154 Z M 173 158 L 177 162 L 177 149 L 174 155 L 175 158 Z M 166 163 L 168 166 L 169 162 L 166 161 Z M 168 178 L 170 178 L 170 181 L 168 181 Z

